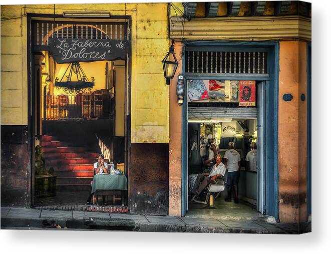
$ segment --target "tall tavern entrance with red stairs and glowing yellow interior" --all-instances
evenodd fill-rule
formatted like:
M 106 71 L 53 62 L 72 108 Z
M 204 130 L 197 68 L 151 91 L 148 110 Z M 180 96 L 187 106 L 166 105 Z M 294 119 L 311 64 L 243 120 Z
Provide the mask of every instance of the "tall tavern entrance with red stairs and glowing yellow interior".
M 129 54 L 97 60 L 76 54 L 80 59 L 59 62 L 52 41 L 126 43 L 128 23 L 124 17 L 116 21 L 30 17 L 30 21 L 32 205 L 79 209 L 91 194 L 100 154 L 108 174 L 127 176 Z M 121 211 L 127 211 L 127 184 L 123 192 L 110 193 L 99 204 L 125 206 Z

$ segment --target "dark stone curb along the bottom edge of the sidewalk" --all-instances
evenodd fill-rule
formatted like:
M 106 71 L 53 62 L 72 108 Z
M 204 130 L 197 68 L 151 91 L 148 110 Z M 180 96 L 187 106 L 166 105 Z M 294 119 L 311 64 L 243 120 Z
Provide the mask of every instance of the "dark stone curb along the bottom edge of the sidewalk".
M 102 218 L 89 217 L 83 219 L 62 218 L 1 218 L 1 229 L 6 227 L 22 228 L 65 228 L 65 229 L 94 229 L 138 232 L 191 232 L 191 233 L 259 233 L 259 234 L 298 234 L 311 231 L 311 223 L 303 223 L 301 230 L 277 226 L 276 229 L 250 229 L 241 227 L 212 226 L 187 223 L 140 222 L 131 218 Z

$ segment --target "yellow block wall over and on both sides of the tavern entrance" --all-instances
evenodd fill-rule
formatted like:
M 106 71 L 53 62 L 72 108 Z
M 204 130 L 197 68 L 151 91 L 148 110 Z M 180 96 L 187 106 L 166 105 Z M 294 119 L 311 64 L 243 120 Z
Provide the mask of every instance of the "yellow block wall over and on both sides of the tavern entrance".
M 1 124 L 28 124 L 26 14 L 53 15 L 53 8 L 1 7 Z M 125 15 L 124 4 L 56 5 L 55 13 L 70 10 Z M 131 142 L 169 143 L 169 87 L 161 65 L 169 49 L 167 4 L 127 4 L 127 15 L 132 17 Z

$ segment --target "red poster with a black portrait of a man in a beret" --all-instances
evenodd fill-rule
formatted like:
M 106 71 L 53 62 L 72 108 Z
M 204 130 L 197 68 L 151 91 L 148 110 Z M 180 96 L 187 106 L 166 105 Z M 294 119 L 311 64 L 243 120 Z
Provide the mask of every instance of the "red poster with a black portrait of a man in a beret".
M 239 81 L 239 106 L 255 106 L 255 80 Z

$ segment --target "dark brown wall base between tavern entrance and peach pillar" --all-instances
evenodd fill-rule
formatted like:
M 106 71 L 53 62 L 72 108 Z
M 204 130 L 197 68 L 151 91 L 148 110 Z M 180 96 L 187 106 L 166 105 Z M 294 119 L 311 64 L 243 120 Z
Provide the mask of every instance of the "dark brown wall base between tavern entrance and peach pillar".
M 131 144 L 130 213 L 168 215 L 169 144 Z

